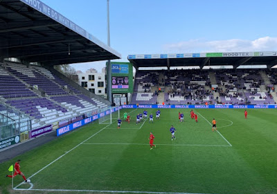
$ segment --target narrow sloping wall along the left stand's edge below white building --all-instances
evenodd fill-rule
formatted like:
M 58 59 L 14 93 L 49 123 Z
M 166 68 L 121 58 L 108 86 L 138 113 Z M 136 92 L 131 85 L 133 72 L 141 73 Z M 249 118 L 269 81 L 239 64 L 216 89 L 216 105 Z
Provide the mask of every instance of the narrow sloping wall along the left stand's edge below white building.
M 95 98 L 96 100 L 99 100 L 102 103 L 107 104 L 108 106 L 111 105 L 111 103 L 108 100 L 105 100 L 104 98 L 101 98 L 100 96 L 97 96 L 96 94 L 91 93 L 90 91 L 88 91 L 87 89 L 84 89 L 83 87 L 81 87 L 80 85 L 78 85 L 77 83 L 73 82 L 72 80 L 70 80 L 69 78 L 67 78 L 66 76 L 64 76 L 62 73 L 60 73 L 59 71 L 55 70 L 53 67 L 48 68 L 48 67 L 44 67 L 46 69 L 49 69 L 49 71 L 51 71 L 53 74 L 55 74 L 56 76 L 58 76 L 59 78 L 61 78 L 62 80 L 64 80 L 65 82 L 69 83 L 69 85 L 75 87 L 75 89 L 78 89 L 80 91 L 82 91 L 82 93 L 86 96 L 89 96 L 89 98 Z

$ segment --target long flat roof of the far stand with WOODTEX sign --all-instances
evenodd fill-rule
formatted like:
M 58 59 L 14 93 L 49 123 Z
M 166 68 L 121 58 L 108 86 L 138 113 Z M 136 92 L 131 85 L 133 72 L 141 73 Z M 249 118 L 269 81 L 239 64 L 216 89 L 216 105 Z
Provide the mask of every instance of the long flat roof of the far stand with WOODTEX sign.
M 266 64 L 271 68 L 277 64 L 277 51 L 267 52 L 225 52 L 225 53 L 179 53 L 154 55 L 128 55 L 134 67 L 186 67 Z

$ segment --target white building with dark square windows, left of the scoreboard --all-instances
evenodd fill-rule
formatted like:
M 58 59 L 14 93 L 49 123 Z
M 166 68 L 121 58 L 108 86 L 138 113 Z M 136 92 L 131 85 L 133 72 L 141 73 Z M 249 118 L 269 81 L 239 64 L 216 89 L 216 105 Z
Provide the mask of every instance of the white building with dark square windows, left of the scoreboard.
M 86 73 L 76 72 L 79 78 L 79 85 L 91 91 L 96 95 L 107 95 L 106 89 L 106 69 L 103 68 L 101 73 L 96 69 L 88 69 Z

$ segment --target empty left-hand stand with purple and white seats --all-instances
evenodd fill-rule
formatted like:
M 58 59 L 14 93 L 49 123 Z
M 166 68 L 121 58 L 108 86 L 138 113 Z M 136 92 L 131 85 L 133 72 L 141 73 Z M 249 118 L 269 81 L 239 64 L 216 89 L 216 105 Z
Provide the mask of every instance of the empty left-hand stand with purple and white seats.
M 34 92 L 36 90 L 39 92 Z M 0 64 L 0 98 L 1 114 L 19 121 L 17 113 L 21 113 L 21 132 L 28 130 L 27 121 L 34 130 L 107 107 L 107 104 L 85 96 L 48 69 L 12 62 Z M 5 105 L 12 111 L 8 112 Z

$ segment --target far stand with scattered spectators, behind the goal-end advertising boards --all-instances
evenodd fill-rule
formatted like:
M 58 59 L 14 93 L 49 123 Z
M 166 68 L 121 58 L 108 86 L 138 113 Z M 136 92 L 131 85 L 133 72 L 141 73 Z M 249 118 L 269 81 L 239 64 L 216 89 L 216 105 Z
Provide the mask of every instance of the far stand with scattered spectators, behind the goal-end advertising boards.
M 141 70 L 136 73 L 131 103 L 157 103 L 159 92 L 153 89 L 163 85 L 166 104 L 274 104 L 276 78 L 276 73 L 265 69 Z

